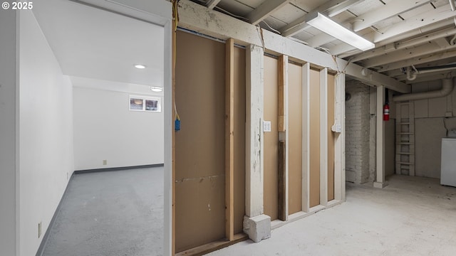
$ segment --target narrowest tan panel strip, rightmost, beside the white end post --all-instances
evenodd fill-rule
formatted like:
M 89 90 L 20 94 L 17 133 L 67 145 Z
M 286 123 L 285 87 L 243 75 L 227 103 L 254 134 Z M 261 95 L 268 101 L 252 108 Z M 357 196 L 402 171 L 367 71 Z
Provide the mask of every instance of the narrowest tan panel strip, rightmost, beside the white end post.
M 328 201 L 334 199 L 334 133 L 331 127 L 334 124 L 334 75 L 328 75 Z

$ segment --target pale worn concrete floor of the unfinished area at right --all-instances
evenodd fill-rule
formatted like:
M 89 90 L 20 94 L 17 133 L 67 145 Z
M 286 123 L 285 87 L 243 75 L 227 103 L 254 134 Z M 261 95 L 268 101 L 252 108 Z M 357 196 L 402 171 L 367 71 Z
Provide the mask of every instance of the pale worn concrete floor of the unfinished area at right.
M 456 188 L 391 176 L 386 188 L 347 183 L 346 203 L 209 255 L 456 255 Z

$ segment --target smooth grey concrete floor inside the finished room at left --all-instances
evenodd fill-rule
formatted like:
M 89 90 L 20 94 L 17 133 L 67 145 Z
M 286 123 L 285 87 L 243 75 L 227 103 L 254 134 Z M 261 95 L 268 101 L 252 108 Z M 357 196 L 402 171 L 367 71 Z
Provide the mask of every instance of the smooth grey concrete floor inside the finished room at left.
M 163 168 L 76 174 L 43 256 L 162 255 Z

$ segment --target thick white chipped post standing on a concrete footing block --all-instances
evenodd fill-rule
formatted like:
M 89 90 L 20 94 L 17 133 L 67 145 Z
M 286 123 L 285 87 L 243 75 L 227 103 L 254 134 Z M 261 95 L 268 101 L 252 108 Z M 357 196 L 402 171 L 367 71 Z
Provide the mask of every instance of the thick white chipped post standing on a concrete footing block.
M 244 216 L 244 233 L 249 235 L 254 242 L 259 242 L 271 235 L 271 218 L 263 214 L 263 48 L 254 45 L 247 46 L 246 61 L 246 216 Z

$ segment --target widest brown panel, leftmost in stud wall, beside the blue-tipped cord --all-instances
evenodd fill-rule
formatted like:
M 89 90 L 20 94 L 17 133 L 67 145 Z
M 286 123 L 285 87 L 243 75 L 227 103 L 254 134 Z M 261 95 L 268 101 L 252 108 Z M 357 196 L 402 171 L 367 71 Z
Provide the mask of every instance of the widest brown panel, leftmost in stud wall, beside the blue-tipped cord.
M 224 238 L 223 43 L 177 32 L 176 252 Z

